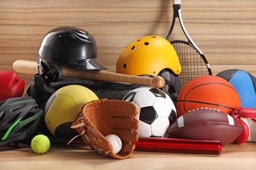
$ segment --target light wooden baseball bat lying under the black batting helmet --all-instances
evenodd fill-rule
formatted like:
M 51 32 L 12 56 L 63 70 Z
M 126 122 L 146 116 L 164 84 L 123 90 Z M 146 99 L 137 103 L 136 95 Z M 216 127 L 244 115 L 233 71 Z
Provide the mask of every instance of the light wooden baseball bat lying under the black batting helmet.
M 123 75 L 104 70 L 81 71 L 77 69 L 71 69 L 69 67 L 61 67 L 61 76 L 66 77 L 82 78 L 89 80 L 102 80 L 108 82 L 128 82 L 133 84 L 144 84 L 152 86 L 153 88 L 161 88 L 165 85 L 165 80 L 161 76 L 144 77 Z M 17 73 L 23 73 L 28 75 L 35 75 L 38 73 L 37 62 L 24 59 L 18 59 L 14 61 L 14 63 L 12 64 L 12 69 Z

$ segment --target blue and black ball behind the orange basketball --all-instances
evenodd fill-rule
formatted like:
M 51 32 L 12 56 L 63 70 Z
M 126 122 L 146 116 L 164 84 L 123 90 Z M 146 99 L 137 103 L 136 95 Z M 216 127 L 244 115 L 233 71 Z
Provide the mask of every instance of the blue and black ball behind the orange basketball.
M 238 92 L 241 107 L 256 108 L 256 78 L 240 69 L 229 69 L 217 74 L 230 82 Z

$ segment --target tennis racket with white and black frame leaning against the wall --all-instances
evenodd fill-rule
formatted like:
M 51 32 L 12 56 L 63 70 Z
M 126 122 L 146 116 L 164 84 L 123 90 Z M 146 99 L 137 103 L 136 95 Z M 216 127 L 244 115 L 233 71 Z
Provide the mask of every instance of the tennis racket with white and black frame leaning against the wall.
M 194 41 L 192 41 L 184 27 L 181 17 L 181 0 L 173 0 L 173 22 L 166 39 L 169 41 L 169 37 L 175 26 L 176 18 L 179 18 L 179 24 L 181 25 L 181 29 L 187 40 L 174 40 L 170 42 L 175 48 L 181 63 L 181 74 L 179 75 L 179 78 L 181 79 L 181 85 L 184 86 L 186 82 L 193 78 L 202 75 L 212 75 L 212 73 L 211 67 L 203 55 L 203 52 L 198 48 Z

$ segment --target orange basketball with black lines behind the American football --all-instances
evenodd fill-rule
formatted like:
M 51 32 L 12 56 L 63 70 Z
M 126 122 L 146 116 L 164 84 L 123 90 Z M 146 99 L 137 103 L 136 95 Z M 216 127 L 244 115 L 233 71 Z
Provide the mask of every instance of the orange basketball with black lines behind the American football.
M 226 114 L 240 107 L 240 98 L 236 89 L 219 76 L 198 76 L 187 82 L 178 95 L 177 116 L 189 110 L 208 107 L 219 109 Z

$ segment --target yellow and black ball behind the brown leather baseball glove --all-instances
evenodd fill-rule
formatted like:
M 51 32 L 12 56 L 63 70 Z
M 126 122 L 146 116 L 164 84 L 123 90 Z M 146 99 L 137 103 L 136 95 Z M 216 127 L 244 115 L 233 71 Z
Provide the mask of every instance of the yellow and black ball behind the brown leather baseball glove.
M 58 89 L 51 95 L 45 106 L 45 124 L 55 137 L 70 138 L 77 132 L 70 126 L 83 105 L 97 100 L 96 94 L 80 85 L 69 85 Z

